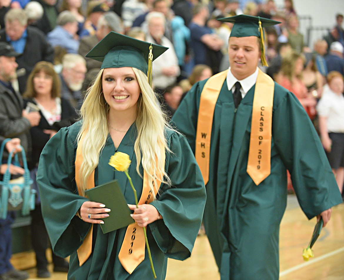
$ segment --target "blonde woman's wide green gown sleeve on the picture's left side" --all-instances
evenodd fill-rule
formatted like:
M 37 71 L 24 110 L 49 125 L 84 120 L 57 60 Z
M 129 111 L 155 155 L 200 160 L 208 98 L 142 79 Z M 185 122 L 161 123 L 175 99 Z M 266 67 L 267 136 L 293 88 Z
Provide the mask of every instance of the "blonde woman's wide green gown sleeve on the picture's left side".
M 77 131 L 62 128 L 43 149 L 37 172 L 41 207 L 52 249 L 67 257 L 77 250 L 90 225 L 75 216 L 88 199 L 78 194 L 75 184 Z M 74 136 L 74 137 L 73 137 Z

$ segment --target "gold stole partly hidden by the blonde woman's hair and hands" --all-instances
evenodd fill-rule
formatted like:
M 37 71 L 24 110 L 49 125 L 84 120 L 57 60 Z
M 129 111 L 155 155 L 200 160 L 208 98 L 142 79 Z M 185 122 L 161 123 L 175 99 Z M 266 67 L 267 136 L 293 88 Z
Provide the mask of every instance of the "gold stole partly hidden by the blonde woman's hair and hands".
M 161 145 L 161 148 L 164 147 Z M 82 139 L 78 143 L 76 149 L 75 157 L 75 170 L 80 170 L 81 163 L 83 161 L 82 156 Z M 162 160 L 165 162 L 165 152 L 162 153 Z M 162 176 L 159 176 L 162 179 Z M 153 201 L 155 195 L 158 193 L 161 185 L 160 179 L 157 180 L 158 186 L 154 186 L 154 196 L 152 195 L 152 190 L 148 185 L 147 173 L 143 171 L 143 187 L 142 194 L 140 197 L 139 204 L 149 204 Z M 79 172 L 75 172 L 75 182 L 78 188 L 79 194 L 81 193 L 81 180 Z M 87 189 L 92 189 L 95 186 L 94 184 L 94 170 L 87 179 Z M 83 244 L 77 250 L 79 265 L 82 266 L 83 263 L 89 258 L 92 253 L 92 232 L 93 225 L 88 231 L 86 237 L 84 238 Z M 119 261 L 121 262 L 123 268 L 131 274 L 135 268 L 144 260 L 146 248 L 146 240 L 144 238 L 143 229 L 140 229 L 136 223 L 132 223 L 128 226 L 120 252 L 118 254 Z

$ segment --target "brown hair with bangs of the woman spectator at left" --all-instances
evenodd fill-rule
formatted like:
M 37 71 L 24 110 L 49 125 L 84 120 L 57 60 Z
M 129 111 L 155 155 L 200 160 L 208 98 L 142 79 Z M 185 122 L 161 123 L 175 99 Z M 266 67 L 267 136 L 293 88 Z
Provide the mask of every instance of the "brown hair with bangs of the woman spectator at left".
M 61 96 L 60 78 L 56 74 L 53 64 L 47 61 L 40 61 L 36 63 L 35 67 L 33 68 L 32 72 L 30 73 L 28 77 L 28 81 L 26 82 L 26 90 L 23 94 L 23 97 L 34 98 L 37 96 L 37 93 L 33 85 L 33 78 L 37 73 L 41 71 L 51 76 L 53 79 L 53 85 L 51 88 L 51 98 L 60 97 Z

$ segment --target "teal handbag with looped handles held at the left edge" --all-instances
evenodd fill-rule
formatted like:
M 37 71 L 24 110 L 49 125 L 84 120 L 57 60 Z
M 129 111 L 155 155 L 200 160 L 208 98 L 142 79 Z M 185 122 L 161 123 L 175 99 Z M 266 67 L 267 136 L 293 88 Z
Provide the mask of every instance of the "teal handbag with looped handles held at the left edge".
M 2 162 L 2 153 L 5 144 L 11 139 L 6 139 L 2 142 L 0 148 L 0 160 Z M 20 146 L 21 147 L 21 146 Z M 21 210 L 23 216 L 29 215 L 30 210 L 35 209 L 35 195 L 36 190 L 31 189 L 32 180 L 30 178 L 30 171 L 24 148 L 21 147 L 21 154 L 24 165 L 24 175 L 17 179 L 11 180 L 10 164 L 12 163 L 14 150 L 10 152 L 7 160 L 7 170 L 3 175 L 3 180 L 0 181 L 0 219 L 6 219 L 7 211 Z M 14 165 L 19 164 L 18 153 L 14 154 Z

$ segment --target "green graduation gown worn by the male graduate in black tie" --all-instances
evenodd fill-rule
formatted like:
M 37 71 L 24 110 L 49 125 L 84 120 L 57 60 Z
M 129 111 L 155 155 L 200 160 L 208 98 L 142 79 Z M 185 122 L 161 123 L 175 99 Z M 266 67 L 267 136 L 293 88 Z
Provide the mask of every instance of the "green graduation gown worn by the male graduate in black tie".
M 193 151 L 205 82 L 192 87 L 172 118 Z M 271 174 L 255 185 L 246 172 L 254 90 L 255 86 L 236 111 L 225 81 L 214 111 L 204 225 L 223 280 L 278 279 L 279 226 L 287 202 L 287 169 L 309 219 L 342 202 L 309 117 L 297 98 L 276 83 Z

